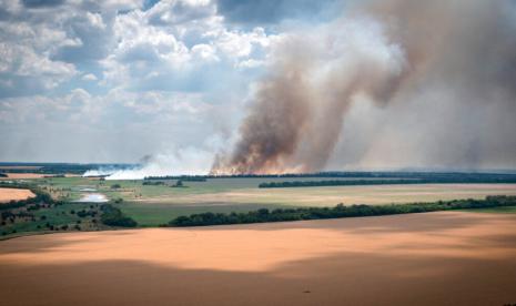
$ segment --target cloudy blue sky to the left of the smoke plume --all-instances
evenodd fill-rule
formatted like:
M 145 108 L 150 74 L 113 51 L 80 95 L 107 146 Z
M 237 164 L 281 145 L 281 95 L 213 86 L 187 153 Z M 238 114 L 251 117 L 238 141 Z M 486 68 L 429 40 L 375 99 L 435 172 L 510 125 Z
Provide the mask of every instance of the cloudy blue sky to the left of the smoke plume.
M 334 4 L 2 0 L 0 160 L 215 152 L 282 33 L 330 18 Z

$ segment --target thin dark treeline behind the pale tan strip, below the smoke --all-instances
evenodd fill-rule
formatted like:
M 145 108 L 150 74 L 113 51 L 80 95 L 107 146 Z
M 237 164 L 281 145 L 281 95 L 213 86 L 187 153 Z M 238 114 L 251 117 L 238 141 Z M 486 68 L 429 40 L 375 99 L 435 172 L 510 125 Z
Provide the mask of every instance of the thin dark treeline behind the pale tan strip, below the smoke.
M 426 177 L 426 178 L 389 178 L 389 180 L 326 180 L 326 181 L 291 181 L 261 183 L 259 188 L 290 188 L 290 187 L 321 187 L 321 186 L 353 186 L 353 185 L 393 185 L 393 184 L 494 184 L 516 183 L 516 177 L 468 176 Z

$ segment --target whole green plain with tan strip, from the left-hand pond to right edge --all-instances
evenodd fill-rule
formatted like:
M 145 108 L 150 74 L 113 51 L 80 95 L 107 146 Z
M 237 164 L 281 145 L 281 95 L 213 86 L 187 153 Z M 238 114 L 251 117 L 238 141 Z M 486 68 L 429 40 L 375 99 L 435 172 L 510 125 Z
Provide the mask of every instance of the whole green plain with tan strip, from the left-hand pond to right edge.
M 263 182 L 281 182 L 282 177 L 209 178 L 206 182 L 183 182 L 184 187 L 142 185 L 143 181 L 100 181 L 84 177 L 52 177 L 36 180 L 54 197 L 80 198 L 81 190 L 91 188 L 110 200 L 141 226 L 155 226 L 180 215 L 213 212 L 247 212 L 262 207 L 334 206 L 344 204 L 389 204 L 433 202 L 454 198 L 483 198 L 486 195 L 516 195 L 516 184 L 417 184 L 366 185 L 296 188 L 257 188 Z M 294 177 L 289 181 L 313 181 Z M 334 180 L 327 177 L 323 180 Z M 340 178 L 342 180 L 342 178 Z M 352 178 L 348 178 L 352 180 Z M 374 180 L 374 178 L 371 178 Z M 118 188 L 112 186 L 120 185 Z

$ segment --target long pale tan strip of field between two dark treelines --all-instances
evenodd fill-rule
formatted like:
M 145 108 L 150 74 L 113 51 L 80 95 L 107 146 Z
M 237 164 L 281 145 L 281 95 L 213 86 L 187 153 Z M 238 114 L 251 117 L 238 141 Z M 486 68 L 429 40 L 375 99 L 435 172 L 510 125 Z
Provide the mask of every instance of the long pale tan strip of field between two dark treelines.
M 325 186 L 305 188 L 242 188 L 227 192 L 164 194 L 134 200 L 169 204 L 283 204 L 334 206 L 344 204 L 391 204 L 484 198 L 486 195 L 516 195 L 516 184 L 409 184 Z

